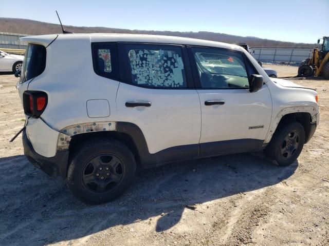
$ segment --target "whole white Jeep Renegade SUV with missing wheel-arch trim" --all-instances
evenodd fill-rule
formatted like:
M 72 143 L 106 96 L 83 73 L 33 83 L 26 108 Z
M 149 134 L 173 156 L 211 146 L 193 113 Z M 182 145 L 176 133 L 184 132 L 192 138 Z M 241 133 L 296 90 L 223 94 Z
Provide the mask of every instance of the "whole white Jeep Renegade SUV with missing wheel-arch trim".
M 240 46 L 134 34 L 22 40 L 24 154 L 87 203 L 118 197 L 136 167 L 259 150 L 287 166 L 319 124 L 316 91 L 270 79 Z

